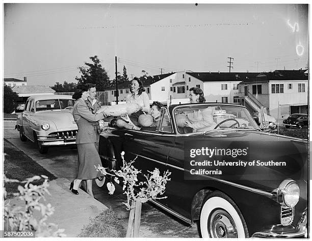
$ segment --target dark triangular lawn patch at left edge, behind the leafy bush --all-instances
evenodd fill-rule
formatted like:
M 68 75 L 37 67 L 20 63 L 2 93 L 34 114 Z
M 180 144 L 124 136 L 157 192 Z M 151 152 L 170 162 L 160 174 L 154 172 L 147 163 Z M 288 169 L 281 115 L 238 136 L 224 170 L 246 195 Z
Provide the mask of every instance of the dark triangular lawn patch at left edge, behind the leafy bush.
M 4 139 L 4 174 L 7 178 L 24 180 L 29 177 L 33 177 L 35 175 L 45 175 L 49 178 L 49 180 L 56 179 L 56 176 L 45 170 L 39 164 L 34 162 L 32 158 L 28 155 L 25 155 L 22 151 L 18 150 L 15 146 L 13 146 L 10 142 Z M 32 182 L 35 185 L 42 184 L 43 179 L 36 180 Z M 5 182 L 4 186 L 6 191 L 8 192 L 7 198 L 13 197 L 10 193 L 18 192 L 17 187 L 20 185 L 16 182 Z

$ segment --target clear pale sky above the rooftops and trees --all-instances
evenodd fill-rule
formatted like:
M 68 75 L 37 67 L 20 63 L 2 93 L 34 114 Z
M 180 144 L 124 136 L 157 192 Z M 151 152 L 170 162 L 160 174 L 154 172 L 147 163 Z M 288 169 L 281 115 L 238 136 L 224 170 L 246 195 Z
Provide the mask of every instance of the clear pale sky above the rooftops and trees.
M 4 77 L 74 82 L 97 55 L 111 79 L 305 68 L 308 7 L 294 4 L 4 5 Z

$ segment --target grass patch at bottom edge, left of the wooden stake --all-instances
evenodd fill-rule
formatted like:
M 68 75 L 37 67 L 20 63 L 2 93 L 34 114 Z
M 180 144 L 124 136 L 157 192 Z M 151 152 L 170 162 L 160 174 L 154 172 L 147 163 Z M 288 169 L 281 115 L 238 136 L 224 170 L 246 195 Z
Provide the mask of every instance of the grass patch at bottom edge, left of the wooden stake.
M 109 208 L 98 216 L 90 219 L 90 224 L 84 226 L 79 237 L 125 237 L 126 231 L 119 223 L 116 213 Z

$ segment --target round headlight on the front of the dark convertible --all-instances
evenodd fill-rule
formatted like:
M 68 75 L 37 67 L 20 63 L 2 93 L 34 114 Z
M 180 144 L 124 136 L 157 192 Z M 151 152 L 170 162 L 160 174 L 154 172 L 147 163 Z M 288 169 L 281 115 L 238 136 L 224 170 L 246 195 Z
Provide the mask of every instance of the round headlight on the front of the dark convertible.
M 277 191 L 277 200 L 280 205 L 294 207 L 300 197 L 300 188 L 292 179 L 283 180 Z

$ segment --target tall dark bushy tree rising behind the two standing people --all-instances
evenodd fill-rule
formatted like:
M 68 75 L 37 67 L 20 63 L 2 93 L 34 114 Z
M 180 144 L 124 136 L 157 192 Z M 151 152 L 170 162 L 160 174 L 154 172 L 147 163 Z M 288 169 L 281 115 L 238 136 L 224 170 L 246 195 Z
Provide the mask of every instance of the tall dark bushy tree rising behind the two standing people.
M 87 67 L 79 67 L 81 77 L 76 76 L 76 79 L 79 84 L 92 83 L 95 85 L 97 91 L 104 91 L 106 87 L 109 86 L 110 78 L 105 68 L 101 66 L 97 56 L 90 57 L 90 60 L 92 60 L 93 63 L 85 62 Z

